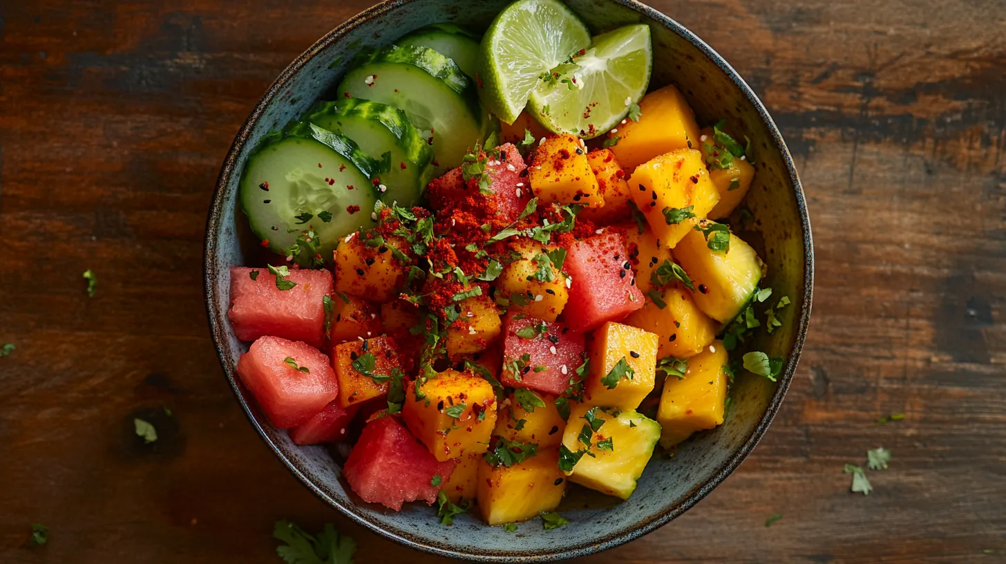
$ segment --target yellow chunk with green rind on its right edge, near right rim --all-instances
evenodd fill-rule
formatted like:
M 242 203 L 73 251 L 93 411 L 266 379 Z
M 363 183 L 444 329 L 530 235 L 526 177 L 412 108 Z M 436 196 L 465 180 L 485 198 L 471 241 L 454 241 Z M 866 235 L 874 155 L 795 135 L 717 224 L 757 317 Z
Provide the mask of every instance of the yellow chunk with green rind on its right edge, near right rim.
M 700 228 L 716 226 L 702 222 Z M 725 226 L 723 226 L 725 227 Z M 709 238 L 723 232 L 710 233 Z M 727 232 L 728 233 L 728 232 Z M 713 251 L 702 232 L 692 231 L 674 251 L 681 267 L 695 285 L 695 303 L 709 317 L 726 323 L 736 317 L 758 291 L 764 264 L 758 253 L 730 234 L 729 249 Z

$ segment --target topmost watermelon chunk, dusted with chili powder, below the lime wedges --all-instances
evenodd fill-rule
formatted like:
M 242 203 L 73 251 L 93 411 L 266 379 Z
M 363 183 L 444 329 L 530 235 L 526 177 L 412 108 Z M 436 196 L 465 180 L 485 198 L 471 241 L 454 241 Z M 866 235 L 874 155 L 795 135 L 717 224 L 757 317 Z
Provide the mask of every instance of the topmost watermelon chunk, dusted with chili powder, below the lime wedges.
M 520 151 L 511 143 L 497 147 L 499 156 L 487 157 L 485 171 L 492 183 L 479 189 L 479 178 L 465 182 L 461 168 L 448 171 L 430 184 L 430 202 L 434 209 L 453 213 L 459 205 L 471 207 L 482 217 L 496 217 L 504 222 L 514 222 L 531 199 L 530 183 L 521 173 L 527 168 Z M 465 201 L 466 196 L 474 201 Z M 466 205 L 472 203 L 472 205 Z

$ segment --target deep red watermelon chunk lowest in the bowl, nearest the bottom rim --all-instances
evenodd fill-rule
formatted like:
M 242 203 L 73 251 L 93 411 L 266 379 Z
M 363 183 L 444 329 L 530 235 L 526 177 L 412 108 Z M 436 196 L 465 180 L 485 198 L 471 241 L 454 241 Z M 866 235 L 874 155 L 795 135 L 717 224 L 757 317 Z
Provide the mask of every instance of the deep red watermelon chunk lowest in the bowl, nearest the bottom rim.
M 386 416 L 363 428 L 342 475 L 364 502 L 399 511 L 403 502 L 436 502 L 442 485 L 430 482 L 434 475 L 441 476 L 440 483 L 447 482 L 457 463 L 438 462 L 397 418 Z

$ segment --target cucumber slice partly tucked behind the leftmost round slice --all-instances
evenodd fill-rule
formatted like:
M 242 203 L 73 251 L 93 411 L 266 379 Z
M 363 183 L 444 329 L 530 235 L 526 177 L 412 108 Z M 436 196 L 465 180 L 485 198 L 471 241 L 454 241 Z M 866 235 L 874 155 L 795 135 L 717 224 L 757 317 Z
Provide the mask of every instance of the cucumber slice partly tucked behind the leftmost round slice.
M 382 200 L 406 207 L 418 202 L 433 177 L 430 163 L 434 151 L 404 112 L 379 102 L 349 98 L 319 102 L 304 121 L 345 135 L 367 156 L 382 163 L 377 170 L 378 183 L 387 187 L 379 193 Z

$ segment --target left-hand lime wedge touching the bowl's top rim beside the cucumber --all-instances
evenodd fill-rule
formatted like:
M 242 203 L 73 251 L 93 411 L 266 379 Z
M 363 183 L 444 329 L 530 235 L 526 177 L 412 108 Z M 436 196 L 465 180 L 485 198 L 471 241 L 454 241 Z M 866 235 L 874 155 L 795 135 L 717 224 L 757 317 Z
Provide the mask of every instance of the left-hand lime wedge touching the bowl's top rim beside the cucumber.
M 496 116 L 512 124 L 539 78 L 591 44 L 591 33 L 555 0 L 519 0 L 500 12 L 479 45 L 479 93 Z M 647 77 L 649 77 L 649 65 Z

